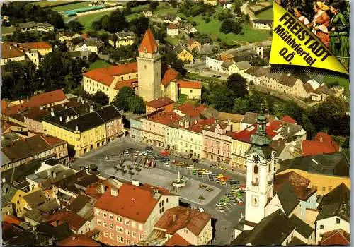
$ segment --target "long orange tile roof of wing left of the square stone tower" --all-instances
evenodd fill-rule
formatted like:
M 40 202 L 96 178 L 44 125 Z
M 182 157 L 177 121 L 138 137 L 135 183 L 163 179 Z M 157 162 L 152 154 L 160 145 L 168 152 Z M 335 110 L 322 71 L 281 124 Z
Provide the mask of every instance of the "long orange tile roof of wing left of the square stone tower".
M 105 68 L 95 68 L 84 73 L 84 76 L 110 86 L 110 84 L 113 83 L 115 76 L 126 75 L 128 73 L 137 73 L 137 62 L 113 65 Z

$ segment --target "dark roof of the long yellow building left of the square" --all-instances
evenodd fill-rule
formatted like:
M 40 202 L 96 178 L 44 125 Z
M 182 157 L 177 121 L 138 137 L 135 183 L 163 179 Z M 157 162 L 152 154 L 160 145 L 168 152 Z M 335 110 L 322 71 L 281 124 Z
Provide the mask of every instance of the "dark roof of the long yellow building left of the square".
M 62 121 L 60 121 L 60 116 L 62 116 Z M 73 119 L 69 122 L 66 122 L 67 116 L 73 117 Z M 77 114 L 73 108 L 55 112 L 55 116 L 45 116 L 43 121 L 52 123 L 56 126 L 60 126 L 61 128 L 66 128 L 68 131 L 72 132 L 76 130 L 76 126 L 78 127 L 79 131 L 88 131 L 105 123 L 105 121 L 103 121 L 97 112 L 90 112 L 88 114 L 79 116 L 79 114 Z

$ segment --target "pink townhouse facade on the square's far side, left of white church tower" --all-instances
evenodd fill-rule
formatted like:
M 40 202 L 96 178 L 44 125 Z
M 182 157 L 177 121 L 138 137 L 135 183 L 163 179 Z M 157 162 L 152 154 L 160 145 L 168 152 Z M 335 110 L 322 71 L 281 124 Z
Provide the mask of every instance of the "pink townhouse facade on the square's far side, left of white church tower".
M 232 166 L 232 137 L 229 133 L 232 133 L 231 126 L 221 121 L 217 121 L 210 128 L 203 129 L 204 157 L 206 159 L 220 165 Z

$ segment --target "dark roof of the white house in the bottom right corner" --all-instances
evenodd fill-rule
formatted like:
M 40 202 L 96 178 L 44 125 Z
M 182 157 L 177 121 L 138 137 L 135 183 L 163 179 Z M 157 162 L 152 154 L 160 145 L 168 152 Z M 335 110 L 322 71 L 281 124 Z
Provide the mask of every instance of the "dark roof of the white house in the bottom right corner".
M 341 219 L 349 222 L 350 219 L 350 205 L 348 203 L 332 203 L 329 205 L 323 205 L 317 215 L 316 221 L 321 219 L 327 219 L 333 216 L 340 217 Z

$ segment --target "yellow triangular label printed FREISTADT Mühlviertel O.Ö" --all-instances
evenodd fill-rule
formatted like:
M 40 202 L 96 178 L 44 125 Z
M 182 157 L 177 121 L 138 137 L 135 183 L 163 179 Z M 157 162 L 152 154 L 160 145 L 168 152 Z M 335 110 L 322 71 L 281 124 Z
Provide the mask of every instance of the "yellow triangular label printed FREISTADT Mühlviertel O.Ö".
M 275 1 L 269 63 L 310 66 L 349 74 L 314 32 Z

